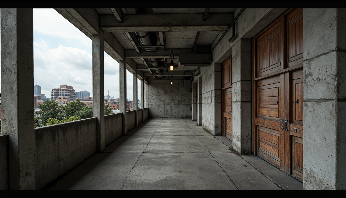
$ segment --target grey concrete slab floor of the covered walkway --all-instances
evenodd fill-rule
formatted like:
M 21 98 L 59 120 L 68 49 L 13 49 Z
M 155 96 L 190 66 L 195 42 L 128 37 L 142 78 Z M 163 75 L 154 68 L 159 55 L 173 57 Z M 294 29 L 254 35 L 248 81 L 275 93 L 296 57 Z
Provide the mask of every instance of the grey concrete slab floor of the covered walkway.
M 302 190 L 303 184 L 191 119 L 148 119 L 47 190 Z

